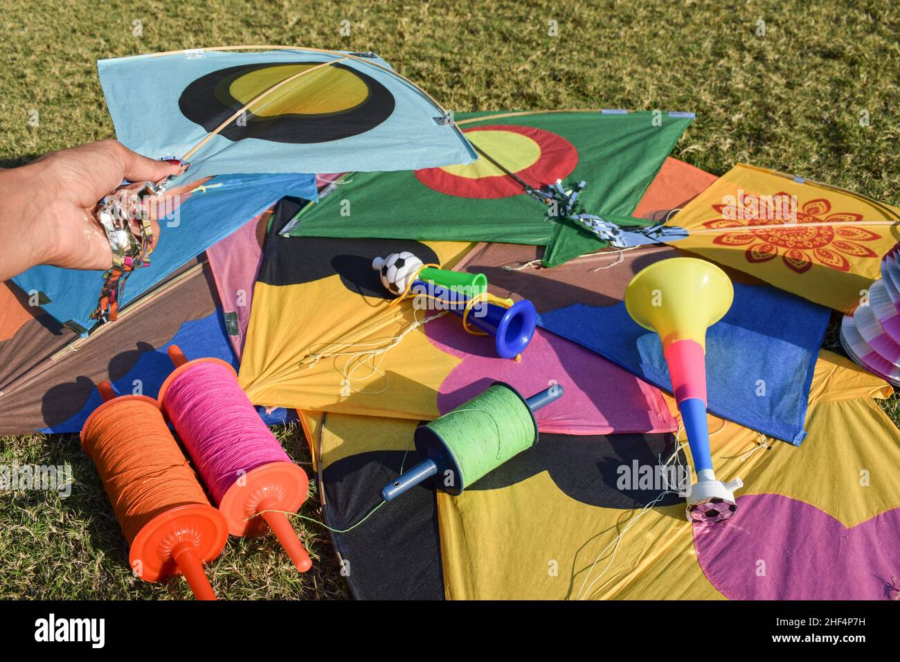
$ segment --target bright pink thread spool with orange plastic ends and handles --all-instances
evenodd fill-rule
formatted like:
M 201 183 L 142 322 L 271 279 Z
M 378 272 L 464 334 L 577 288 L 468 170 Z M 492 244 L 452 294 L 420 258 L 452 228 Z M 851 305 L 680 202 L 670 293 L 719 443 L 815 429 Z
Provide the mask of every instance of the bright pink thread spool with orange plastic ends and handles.
M 306 572 L 312 561 L 285 514 L 306 501 L 306 472 L 259 418 L 234 368 L 219 358 L 188 361 L 176 345 L 168 355 L 175 370 L 159 389 L 159 404 L 225 515 L 229 533 L 259 535 L 267 524 L 293 565 Z

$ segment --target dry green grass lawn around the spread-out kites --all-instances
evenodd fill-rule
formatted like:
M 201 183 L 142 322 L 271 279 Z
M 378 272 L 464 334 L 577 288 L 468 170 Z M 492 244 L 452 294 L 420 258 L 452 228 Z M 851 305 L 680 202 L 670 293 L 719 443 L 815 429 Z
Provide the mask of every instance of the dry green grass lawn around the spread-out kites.
M 885 2 L 347 3 L 237 0 L 5 3 L 0 12 L 0 166 L 112 135 L 96 59 L 221 44 L 374 50 L 456 111 L 693 111 L 673 154 L 716 175 L 739 161 L 894 204 L 900 168 L 900 8 Z M 341 21 L 350 36 L 340 35 Z M 132 34 L 135 21 L 142 35 Z M 548 35 L 551 21 L 559 36 Z M 756 35 L 765 22 L 764 37 Z M 147 81 L 139 81 L 146 84 Z M 152 81 L 150 81 L 152 83 Z M 39 113 L 31 126 L 31 111 Z M 869 126 L 860 126 L 860 113 Z M 839 349 L 834 328 L 825 346 Z M 883 404 L 898 420 L 900 401 Z M 291 431 L 293 457 L 308 460 Z M 0 597 L 185 597 L 184 583 L 130 576 L 91 463 L 71 438 L 3 438 L 0 463 L 71 463 L 71 497 L 0 494 Z M 316 503 L 315 498 L 310 503 Z M 316 516 L 308 504 L 305 514 Z M 214 582 L 229 598 L 336 597 L 320 557 L 293 572 L 271 539 L 230 540 Z

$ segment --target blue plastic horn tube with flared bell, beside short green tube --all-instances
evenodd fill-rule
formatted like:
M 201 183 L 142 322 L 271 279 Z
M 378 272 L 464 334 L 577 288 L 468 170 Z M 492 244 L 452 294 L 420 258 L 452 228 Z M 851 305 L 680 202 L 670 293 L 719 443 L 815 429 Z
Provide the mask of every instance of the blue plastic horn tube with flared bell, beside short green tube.
M 458 290 L 451 290 L 431 281 L 415 281 L 410 286 L 413 295 L 429 295 L 440 304 L 462 317 L 469 305 L 468 295 Z M 477 329 L 490 333 L 494 337 L 494 348 L 500 358 L 516 358 L 521 354 L 535 336 L 537 311 L 535 305 L 527 299 L 506 306 L 481 301 L 473 304 L 466 321 Z

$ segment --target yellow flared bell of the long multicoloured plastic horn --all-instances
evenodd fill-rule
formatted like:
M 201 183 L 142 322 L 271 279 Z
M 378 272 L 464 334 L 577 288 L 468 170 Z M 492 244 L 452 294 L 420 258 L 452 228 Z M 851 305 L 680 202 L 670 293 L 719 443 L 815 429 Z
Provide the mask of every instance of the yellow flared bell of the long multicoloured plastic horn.
M 733 299 L 731 280 L 712 262 L 669 258 L 632 278 L 625 307 L 644 329 L 659 333 L 663 348 L 695 340 L 706 349 L 707 327 L 722 319 Z

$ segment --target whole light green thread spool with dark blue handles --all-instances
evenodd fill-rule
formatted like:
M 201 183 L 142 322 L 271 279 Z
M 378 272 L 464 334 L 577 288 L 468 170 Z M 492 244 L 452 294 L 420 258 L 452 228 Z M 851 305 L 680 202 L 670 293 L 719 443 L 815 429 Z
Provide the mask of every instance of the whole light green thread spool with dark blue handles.
M 553 385 L 526 399 L 512 386 L 495 382 L 452 412 L 419 425 L 414 440 L 425 459 L 385 485 L 384 500 L 391 501 L 429 476 L 435 476 L 439 489 L 462 493 L 509 458 L 534 446 L 538 440 L 536 410 L 562 394 L 563 387 Z

